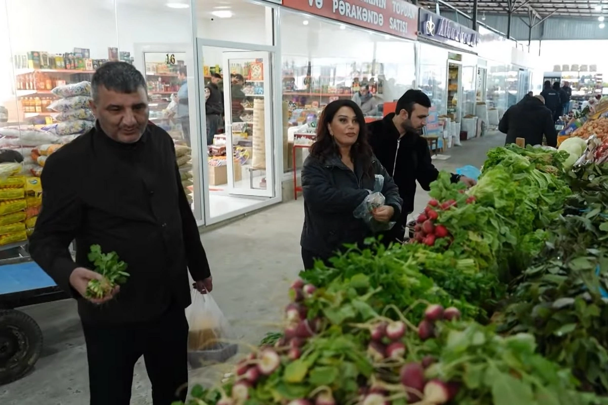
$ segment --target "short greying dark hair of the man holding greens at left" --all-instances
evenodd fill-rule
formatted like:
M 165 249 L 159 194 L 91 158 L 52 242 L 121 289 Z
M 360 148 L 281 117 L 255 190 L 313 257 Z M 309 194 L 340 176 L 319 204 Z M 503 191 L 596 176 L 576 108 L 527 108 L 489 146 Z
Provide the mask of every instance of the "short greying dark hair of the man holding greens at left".
M 99 86 L 118 93 L 134 93 L 139 87 L 147 88 L 142 73 L 126 62 L 106 62 L 95 70 L 91 80 L 91 95 L 95 101 Z

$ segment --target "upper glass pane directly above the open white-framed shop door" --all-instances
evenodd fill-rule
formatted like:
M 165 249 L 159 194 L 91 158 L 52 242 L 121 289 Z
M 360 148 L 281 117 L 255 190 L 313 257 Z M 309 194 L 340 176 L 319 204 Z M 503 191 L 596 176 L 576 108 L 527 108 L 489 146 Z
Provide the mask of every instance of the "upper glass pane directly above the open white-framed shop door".
M 197 36 L 272 45 L 272 7 L 244 0 L 196 0 Z

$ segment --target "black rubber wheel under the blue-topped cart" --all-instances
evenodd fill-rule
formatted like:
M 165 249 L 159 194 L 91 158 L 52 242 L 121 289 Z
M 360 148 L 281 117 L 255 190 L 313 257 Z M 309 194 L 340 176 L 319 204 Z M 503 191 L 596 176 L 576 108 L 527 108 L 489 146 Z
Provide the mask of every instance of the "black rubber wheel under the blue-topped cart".
M 8 384 L 29 372 L 42 351 L 42 332 L 30 316 L 0 310 L 0 384 Z

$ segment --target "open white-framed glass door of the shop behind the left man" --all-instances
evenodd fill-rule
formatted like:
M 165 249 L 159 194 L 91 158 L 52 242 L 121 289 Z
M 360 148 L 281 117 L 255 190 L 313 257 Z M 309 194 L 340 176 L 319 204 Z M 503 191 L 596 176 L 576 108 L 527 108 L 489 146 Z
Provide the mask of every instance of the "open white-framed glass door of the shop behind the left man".
M 223 52 L 228 194 L 274 196 L 269 52 Z

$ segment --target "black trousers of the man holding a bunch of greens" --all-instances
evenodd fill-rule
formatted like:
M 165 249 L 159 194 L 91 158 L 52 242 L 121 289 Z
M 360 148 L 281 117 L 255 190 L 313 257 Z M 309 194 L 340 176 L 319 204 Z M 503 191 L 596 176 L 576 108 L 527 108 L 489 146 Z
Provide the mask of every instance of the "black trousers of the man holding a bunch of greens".
M 91 405 L 129 405 L 133 369 L 143 356 L 154 405 L 185 401 L 188 391 L 188 321 L 183 308 L 129 325 L 83 322 Z

